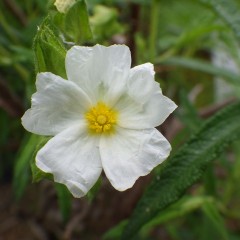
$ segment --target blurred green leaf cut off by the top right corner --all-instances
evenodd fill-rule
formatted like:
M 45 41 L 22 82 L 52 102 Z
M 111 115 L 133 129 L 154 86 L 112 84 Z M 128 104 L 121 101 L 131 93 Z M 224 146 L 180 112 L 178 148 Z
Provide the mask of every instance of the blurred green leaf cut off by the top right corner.
M 199 0 L 214 10 L 240 40 L 240 5 L 235 0 Z

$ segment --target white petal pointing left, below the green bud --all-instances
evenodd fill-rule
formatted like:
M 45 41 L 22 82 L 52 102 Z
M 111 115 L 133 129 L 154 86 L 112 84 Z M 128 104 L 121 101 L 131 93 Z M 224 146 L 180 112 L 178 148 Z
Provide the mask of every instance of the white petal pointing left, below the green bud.
M 37 75 L 32 107 L 22 117 L 23 126 L 40 135 L 56 135 L 83 118 L 91 105 L 75 83 L 52 73 Z

